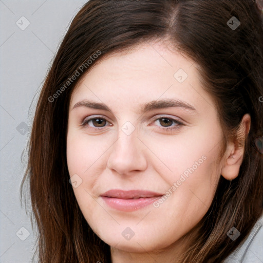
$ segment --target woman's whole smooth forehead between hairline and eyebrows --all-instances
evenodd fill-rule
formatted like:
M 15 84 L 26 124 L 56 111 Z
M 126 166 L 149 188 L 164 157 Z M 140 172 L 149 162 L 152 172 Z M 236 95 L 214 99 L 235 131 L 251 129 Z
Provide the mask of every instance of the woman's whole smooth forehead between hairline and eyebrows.
M 162 43 L 147 43 L 109 55 L 92 67 L 72 93 L 70 107 L 92 99 L 109 107 L 132 104 L 141 108 L 142 103 L 165 98 L 186 101 L 195 108 L 198 102 L 211 107 L 199 80 L 191 59 Z

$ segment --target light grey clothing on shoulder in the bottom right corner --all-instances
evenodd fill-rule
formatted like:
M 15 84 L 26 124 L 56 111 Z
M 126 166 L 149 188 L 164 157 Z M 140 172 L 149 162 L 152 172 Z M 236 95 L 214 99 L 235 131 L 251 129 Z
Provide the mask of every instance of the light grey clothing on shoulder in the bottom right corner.
M 261 216 L 249 236 L 223 263 L 263 262 L 263 216 Z

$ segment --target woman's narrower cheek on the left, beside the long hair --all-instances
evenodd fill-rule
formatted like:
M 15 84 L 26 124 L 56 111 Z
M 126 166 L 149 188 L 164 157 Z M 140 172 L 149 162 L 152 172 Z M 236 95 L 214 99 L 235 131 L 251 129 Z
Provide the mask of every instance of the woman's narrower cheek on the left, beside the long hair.
M 68 171 L 70 177 L 78 175 L 77 179 L 81 182 L 78 187 L 73 187 L 73 191 L 86 219 L 96 208 L 94 198 L 99 191 L 98 179 L 106 168 L 106 152 L 111 144 L 111 140 L 105 136 L 91 138 L 83 131 L 74 128 L 68 130 Z

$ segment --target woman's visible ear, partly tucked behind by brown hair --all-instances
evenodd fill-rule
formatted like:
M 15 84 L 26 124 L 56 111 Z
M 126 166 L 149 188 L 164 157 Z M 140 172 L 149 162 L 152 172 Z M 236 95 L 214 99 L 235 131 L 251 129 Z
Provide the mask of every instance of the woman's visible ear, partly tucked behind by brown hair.
M 249 134 L 251 118 L 245 114 L 238 128 L 234 141 L 228 142 L 221 175 L 227 180 L 235 179 L 239 174 L 239 168 L 245 152 L 245 140 Z M 240 145 L 241 143 L 241 145 Z

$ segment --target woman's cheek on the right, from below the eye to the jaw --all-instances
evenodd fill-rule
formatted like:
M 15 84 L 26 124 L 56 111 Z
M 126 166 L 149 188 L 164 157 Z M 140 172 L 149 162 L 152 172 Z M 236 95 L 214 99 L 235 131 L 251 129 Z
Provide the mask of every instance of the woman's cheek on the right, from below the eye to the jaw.
M 196 222 L 212 203 L 220 178 L 220 165 L 216 160 L 221 132 L 219 127 L 212 129 L 216 125 L 204 123 L 180 136 L 162 137 L 161 144 L 157 137 L 148 141 L 151 141 L 152 151 L 163 160 L 163 164 L 154 164 L 155 170 L 166 181 L 166 193 L 172 198 L 168 197 L 171 202 L 165 200 L 165 204 L 160 205 L 167 206 L 167 210 L 173 206 L 173 218 Z

